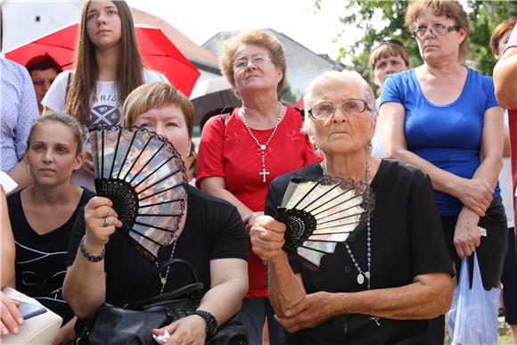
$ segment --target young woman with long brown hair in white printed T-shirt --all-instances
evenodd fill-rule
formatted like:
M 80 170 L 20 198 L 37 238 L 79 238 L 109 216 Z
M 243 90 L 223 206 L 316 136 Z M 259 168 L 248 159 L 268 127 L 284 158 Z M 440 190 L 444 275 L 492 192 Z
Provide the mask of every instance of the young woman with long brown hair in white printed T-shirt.
M 119 124 L 127 94 L 144 83 L 167 81 L 144 68 L 125 1 L 85 1 L 75 67 L 55 79 L 42 103 L 46 110 L 69 113 L 83 126 Z M 93 188 L 88 146 L 76 181 Z

